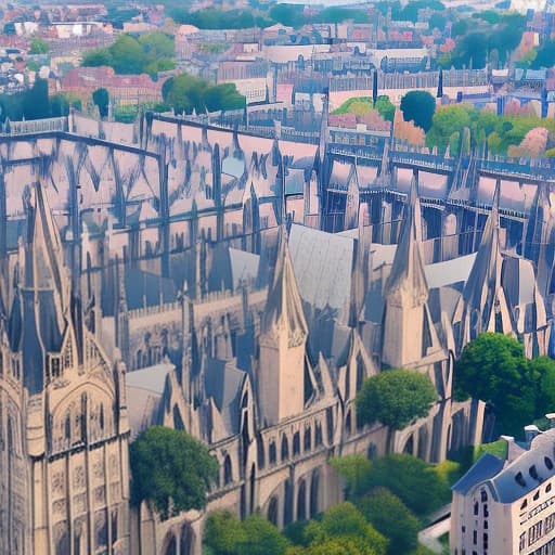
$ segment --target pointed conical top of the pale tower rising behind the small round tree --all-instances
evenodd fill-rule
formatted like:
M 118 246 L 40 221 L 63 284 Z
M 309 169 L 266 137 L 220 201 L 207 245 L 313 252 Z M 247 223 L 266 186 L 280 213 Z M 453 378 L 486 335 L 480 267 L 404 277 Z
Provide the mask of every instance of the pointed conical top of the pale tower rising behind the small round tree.
M 406 205 L 406 217 L 402 224 L 391 273 L 387 281 L 386 295 L 399 292 L 409 293 L 415 305 L 421 304 L 423 299 L 427 299 L 428 285 L 424 273 L 421 242 L 421 203 L 417 178 L 414 176 Z

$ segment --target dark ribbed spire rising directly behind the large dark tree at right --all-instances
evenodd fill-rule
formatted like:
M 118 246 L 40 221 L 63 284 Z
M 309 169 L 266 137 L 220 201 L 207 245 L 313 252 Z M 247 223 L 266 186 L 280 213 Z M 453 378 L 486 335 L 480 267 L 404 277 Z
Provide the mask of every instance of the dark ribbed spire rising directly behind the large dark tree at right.
M 460 319 L 459 349 L 483 332 L 511 333 L 511 313 L 501 286 L 503 258 L 499 241 L 498 180 L 491 212 L 486 221 L 478 254 L 464 286 L 455 324 Z

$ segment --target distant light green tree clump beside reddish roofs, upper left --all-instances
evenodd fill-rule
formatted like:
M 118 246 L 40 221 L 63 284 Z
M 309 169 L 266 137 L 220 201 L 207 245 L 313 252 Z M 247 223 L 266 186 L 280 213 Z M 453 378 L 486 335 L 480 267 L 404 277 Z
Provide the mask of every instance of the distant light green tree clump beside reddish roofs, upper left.
M 147 73 L 155 77 L 158 72 L 175 67 L 175 53 L 173 39 L 165 33 L 147 33 L 139 37 L 122 33 L 114 44 L 86 52 L 81 65 L 107 65 L 117 74 Z

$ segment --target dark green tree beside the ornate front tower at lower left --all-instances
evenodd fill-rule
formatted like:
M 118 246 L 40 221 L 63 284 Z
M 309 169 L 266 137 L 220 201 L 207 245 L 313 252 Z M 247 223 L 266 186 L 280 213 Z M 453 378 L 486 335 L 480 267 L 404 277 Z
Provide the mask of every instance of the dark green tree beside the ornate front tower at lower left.
M 218 462 L 189 434 L 152 426 L 129 448 L 132 501 L 149 502 L 162 519 L 204 508 L 206 492 L 218 476 Z

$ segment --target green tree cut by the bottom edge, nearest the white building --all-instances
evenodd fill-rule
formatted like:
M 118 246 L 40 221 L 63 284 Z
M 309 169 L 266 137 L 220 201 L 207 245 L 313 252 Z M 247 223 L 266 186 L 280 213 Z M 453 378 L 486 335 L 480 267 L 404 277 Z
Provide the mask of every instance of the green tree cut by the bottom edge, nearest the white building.
M 375 488 L 357 501 L 366 520 L 389 540 L 388 555 L 411 553 L 418 544 L 418 519 L 386 488 Z

